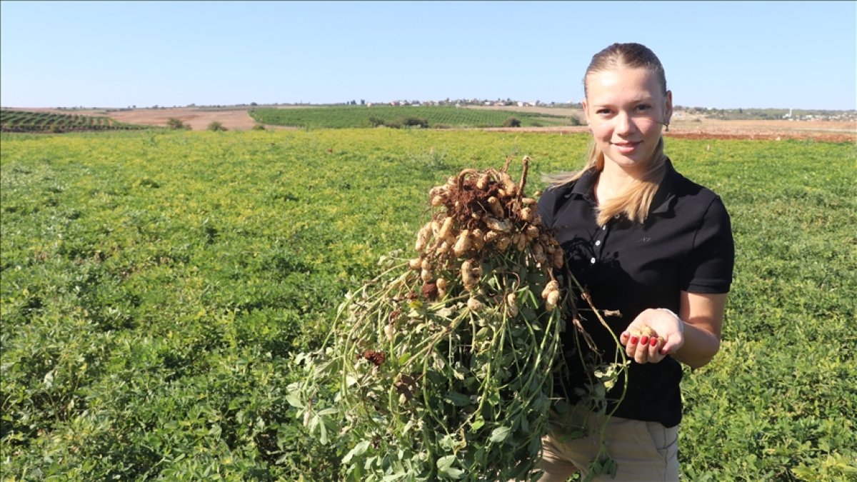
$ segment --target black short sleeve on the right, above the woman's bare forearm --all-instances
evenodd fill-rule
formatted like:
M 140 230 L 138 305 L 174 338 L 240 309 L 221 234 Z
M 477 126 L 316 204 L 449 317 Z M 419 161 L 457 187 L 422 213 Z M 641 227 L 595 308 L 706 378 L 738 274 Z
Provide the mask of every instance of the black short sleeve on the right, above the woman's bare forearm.
M 725 293 L 732 284 L 735 246 L 729 214 L 720 197 L 705 211 L 680 274 L 681 289 L 697 293 Z

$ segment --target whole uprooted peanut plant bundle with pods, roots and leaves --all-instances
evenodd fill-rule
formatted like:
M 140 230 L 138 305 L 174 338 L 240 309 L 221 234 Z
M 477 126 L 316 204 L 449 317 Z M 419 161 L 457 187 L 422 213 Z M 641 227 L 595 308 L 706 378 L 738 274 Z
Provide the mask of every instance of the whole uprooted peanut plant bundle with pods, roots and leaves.
M 573 304 L 527 163 L 518 183 L 507 160 L 432 189 L 417 256 L 350 293 L 326 348 L 299 357 L 289 401 L 323 441 L 339 431 L 350 479 L 530 478 Z

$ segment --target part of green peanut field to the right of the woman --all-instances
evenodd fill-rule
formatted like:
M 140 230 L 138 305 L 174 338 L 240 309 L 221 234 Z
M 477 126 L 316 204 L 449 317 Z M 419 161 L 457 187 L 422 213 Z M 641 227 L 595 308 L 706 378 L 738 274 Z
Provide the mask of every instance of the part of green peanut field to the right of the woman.
M 681 148 L 669 149 L 671 144 Z M 668 141 L 730 210 L 737 268 L 722 352 L 686 378 L 692 479 L 854 478 L 853 144 Z M 695 164 L 696 166 L 692 166 Z M 802 467 L 802 468 L 801 468 Z M 812 477 L 807 474 L 812 472 Z M 750 476 L 750 474 L 754 474 Z

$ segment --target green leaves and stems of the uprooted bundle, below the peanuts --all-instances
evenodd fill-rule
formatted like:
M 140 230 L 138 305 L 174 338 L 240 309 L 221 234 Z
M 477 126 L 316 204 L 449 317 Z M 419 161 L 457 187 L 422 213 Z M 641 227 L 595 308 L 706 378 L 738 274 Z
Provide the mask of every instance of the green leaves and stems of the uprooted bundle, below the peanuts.
M 486 285 L 505 287 L 503 268 L 514 257 L 503 257 L 494 266 L 500 274 L 486 277 Z M 559 310 L 546 314 L 524 286 L 520 313 L 487 300 L 477 318 L 458 292 L 443 303 L 408 301 L 423 285 L 418 272 L 406 264 L 389 269 L 353 293 L 333 326 L 335 341 L 307 363 L 307 381 L 291 386 L 290 403 L 310 435 L 331 438 L 346 453 L 343 476 L 351 480 L 474 480 L 488 473 L 506 480 L 528 473 L 551 407 L 548 367 L 560 346 Z M 524 265 L 514 269 L 506 271 L 510 278 L 527 273 Z M 547 282 L 535 269 L 529 275 L 534 284 Z M 367 348 L 387 357 L 379 361 L 381 352 Z M 336 394 L 320 393 L 320 382 L 337 386 Z

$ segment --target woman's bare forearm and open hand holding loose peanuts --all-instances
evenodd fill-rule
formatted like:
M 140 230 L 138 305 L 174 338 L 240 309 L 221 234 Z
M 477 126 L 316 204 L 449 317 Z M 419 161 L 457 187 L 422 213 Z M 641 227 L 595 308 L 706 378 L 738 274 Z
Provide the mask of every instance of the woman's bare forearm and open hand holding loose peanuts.
M 726 293 L 681 292 L 680 319 L 668 310 L 644 310 L 620 335 L 620 342 L 625 345 L 628 357 L 637 363 L 657 363 L 672 354 L 680 362 L 699 368 L 720 350 L 725 307 Z M 643 325 L 665 339 L 662 346 L 652 345 L 648 337 L 640 339 L 630 334 L 633 328 Z

